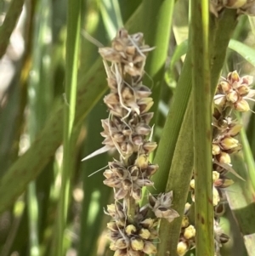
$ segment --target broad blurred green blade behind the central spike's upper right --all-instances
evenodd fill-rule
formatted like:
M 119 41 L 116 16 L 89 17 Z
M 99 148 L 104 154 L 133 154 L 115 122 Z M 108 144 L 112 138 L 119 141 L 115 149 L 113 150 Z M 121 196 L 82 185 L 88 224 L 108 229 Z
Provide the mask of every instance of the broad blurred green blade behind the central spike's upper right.
M 152 123 L 157 122 L 157 110 L 161 94 L 161 82 L 164 81 L 164 67 L 167 60 L 167 50 L 172 28 L 173 8 L 175 1 L 153 1 L 143 2 L 143 33 L 144 42 L 151 47 L 156 47 L 146 60 L 145 71 L 148 76 L 144 76 L 144 84 L 152 86 L 154 105 L 154 117 Z M 155 22 L 154 17 L 157 17 Z

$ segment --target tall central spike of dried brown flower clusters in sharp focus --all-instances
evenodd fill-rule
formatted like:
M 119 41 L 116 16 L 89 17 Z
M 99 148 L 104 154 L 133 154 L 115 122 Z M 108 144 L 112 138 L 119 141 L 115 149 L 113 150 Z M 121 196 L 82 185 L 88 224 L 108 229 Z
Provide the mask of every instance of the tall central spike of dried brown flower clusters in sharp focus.
M 153 185 L 150 177 L 158 169 L 149 162 L 150 152 L 156 149 L 150 139 L 153 113 L 148 112 L 153 100 L 150 88 L 142 83 L 150 50 L 142 33 L 128 35 L 124 29 L 117 32 L 111 47 L 99 48 L 111 92 L 104 99 L 110 112 L 109 118 L 102 120 L 105 146 L 98 152 L 116 150 L 120 156 L 109 162 L 104 173 L 104 183 L 113 188 L 116 200 L 105 212 L 112 218 L 107 227 L 115 256 L 156 253 L 157 218 L 172 221 L 178 217 L 171 208 L 172 192 L 150 196 L 150 202 L 139 208 L 142 188 Z

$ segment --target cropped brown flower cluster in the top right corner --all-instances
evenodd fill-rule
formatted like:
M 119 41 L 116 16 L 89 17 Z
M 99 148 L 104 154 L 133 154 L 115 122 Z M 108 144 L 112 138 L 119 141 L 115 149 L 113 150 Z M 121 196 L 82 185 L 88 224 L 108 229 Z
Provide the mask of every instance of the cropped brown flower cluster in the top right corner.
M 237 9 L 238 14 L 255 15 L 254 0 L 210 0 L 210 11 L 216 17 L 224 8 Z

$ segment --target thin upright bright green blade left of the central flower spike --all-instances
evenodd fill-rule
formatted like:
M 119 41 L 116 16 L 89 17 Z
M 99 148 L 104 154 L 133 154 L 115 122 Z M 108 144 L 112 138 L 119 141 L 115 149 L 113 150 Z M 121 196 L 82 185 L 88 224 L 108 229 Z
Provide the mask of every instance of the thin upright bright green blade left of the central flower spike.
M 69 0 L 67 3 L 67 38 L 66 38 L 66 60 L 65 60 L 65 97 L 64 108 L 64 156 L 61 173 L 61 189 L 59 198 L 56 255 L 64 255 L 64 230 L 67 220 L 67 210 L 70 201 L 70 182 L 73 170 L 73 156 L 75 141 L 75 117 L 77 105 L 77 71 L 79 38 L 81 31 L 82 1 Z

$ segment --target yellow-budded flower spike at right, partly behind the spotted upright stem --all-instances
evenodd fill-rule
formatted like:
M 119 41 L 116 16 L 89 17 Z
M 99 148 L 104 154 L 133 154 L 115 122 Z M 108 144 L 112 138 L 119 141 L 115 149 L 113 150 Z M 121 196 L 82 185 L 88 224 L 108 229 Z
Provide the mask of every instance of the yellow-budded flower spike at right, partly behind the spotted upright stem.
M 253 100 L 255 90 L 251 88 L 252 77 L 240 77 L 237 71 L 230 72 L 218 83 L 214 96 L 214 111 L 212 116 L 212 202 L 214 206 L 214 244 L 215 255 L 220 255 L 222 243 L 229 237 L 223 233 L 219 224 L 219 216 L 224 211 L 224 188 L 234 182 L 226 177 L 231 172 L 242 179 L 231 167 L 230 155 L 241 150 L 241 144 L 236 136 L 241 131 L 241 124 L 233 118 L 235 111 L 250 111 L 247 100 Z M 195 179 L 190 181 L 192 199 L 195 201 Z M 189 247 L 187 247 L 189 248 Z M 184 254 L 179 254 L 184 255 Z

